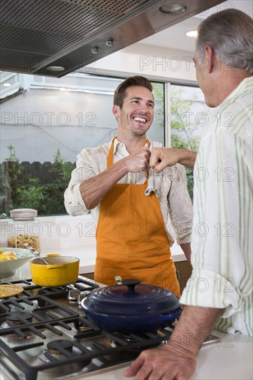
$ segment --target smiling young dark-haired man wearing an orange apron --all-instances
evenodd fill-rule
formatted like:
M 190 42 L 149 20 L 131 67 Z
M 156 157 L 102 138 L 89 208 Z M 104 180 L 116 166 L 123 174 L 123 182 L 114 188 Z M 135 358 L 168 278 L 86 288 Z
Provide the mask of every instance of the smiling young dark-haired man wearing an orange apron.
M 71 215 L 91 210 L 97 223 L 96 281 L 113 285 L 115 276 L 137 278 L 180 296 L 171 224 L 189 259 L 192 205 L 180 164 L 162 175 L 149 170 L 152 147 L 162 146 L 146 135 L 154 114 L 151 91 L 151 82 L 138 76 L 118 86 L 113 105 L 118 135 L 77 156 L 65 205 Z

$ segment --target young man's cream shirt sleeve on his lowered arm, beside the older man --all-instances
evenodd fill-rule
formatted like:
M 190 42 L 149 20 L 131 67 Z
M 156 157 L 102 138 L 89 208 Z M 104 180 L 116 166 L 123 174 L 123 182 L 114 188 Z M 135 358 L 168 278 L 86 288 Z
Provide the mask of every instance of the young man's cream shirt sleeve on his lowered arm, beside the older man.
M 176 164 L 168 168 L 167 175 L 171 181 L 168 194 L 169 223 L 167 228 L 173 229 L 178 244 L 191 242 L 193 223 L 193 207 L 187 190 L 185 167 Z

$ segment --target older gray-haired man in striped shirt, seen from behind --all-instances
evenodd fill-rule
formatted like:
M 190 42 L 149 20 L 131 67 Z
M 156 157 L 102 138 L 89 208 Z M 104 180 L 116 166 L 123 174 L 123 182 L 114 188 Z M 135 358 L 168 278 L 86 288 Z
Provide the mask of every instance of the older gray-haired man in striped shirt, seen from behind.
M 193 167 L 193 273 L 180 301 L 180 321 L 163 348 L 140 354 L 126 376 L 188 379 L 200 345 L 216 326 L 252 336 L 252 19 L 239 10 L 211 15 L 198 28 L 194 62 L 209 123 L 198 154 L 155 149 L 159 172 Z M 198 180 L 199 171 L 205 180 Z M 200 285 L 200 280 L 202 284 Z

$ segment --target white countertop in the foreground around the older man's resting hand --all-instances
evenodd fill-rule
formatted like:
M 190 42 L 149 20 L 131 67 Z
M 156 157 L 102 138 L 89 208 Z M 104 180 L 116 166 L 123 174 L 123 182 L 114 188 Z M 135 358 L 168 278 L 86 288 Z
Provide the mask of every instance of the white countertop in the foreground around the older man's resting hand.
M 242 334 L 223 334 L 221 342 L 204 346 L 198 353 L 197 366 L 191 380 L 247 380 L 253 379 L 253 339 Z M 117 365 L 96 374 L 83 375 L 88 380 L 122 380 L 127 364 Z M 76 379 L 75 379 L 76 380 Z M 81 380 L 81 378 L 80 378 Z

